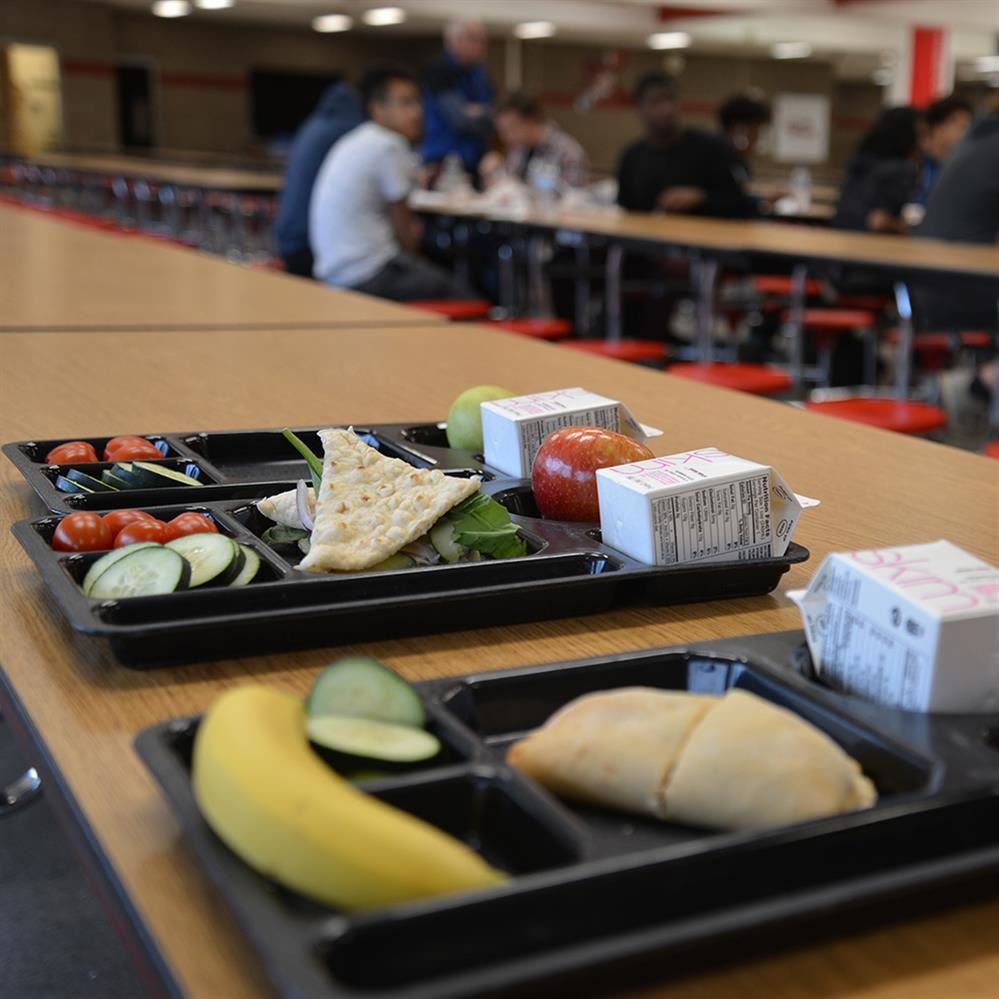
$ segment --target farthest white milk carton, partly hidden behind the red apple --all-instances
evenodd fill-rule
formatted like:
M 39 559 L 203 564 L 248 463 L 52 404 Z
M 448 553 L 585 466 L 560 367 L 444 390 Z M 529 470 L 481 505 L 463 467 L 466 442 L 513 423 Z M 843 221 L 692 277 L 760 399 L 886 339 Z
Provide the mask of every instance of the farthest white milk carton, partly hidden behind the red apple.
M 603 427 L 638 441 L 662 433 L 616 399 L 582 388 L 496 399 L 482 403 L 481 412 L 486 464 L 518 479 L 530 478 L 541 442 L 563 427 Z

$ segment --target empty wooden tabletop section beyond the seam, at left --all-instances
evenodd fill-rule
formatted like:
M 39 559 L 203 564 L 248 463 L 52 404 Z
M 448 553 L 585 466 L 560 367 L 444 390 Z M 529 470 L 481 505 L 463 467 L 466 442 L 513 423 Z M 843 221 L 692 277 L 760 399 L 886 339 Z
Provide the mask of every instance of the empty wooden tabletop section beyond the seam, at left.
M 0 205 L 0 332 L 434 322 L 384 299 Z

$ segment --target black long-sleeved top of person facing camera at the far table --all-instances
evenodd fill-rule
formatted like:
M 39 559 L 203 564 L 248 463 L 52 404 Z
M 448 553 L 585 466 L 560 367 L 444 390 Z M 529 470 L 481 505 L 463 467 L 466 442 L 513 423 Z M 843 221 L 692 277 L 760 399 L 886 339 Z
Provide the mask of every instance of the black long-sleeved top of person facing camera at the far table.
M 670 187 L 699 187 L 705 194 L 698 215 L 751 218 L 756 203 L 743 186 L 745 167 L 727 140 L 685 128 L 673 142 L 659 145 L 640 139 L 618 164 L 618 204 L 632 212 L 656 210 Z

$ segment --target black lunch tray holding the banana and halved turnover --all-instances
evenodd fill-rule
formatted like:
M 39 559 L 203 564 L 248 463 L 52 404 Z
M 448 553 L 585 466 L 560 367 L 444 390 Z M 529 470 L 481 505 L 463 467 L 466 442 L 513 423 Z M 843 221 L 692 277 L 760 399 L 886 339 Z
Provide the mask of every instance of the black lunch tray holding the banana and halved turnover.
M 999 891 L 999 715 L 913 715 L 831 693 L 789 665 L 802 639 L 755 635 L 417 684 L 444 761 L 360 786 L 464 839 L 512 879 L 367 914 L 275 886 L 212 833 L 191 792 L 198 718 L 149 728 L 136 747 L 274 984 L 296 999 L 621 990 L 625 976 L 715 967 Z M 789 708 L 861 763 L 879 803 L 718 833 L 566 804 L 506 767 L 510 743 L 567 701 L 635 684 L 739 687 Z

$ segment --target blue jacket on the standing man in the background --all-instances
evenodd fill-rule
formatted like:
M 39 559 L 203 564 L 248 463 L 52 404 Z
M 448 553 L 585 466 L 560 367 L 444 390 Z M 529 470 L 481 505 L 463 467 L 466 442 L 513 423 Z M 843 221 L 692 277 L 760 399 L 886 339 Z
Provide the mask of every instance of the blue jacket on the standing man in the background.
M 481 66 L 462 66 L 445 53 L 423 80 L 423 160 L 439 163 L 450 153 L 474 173 L 492 132 L 490 116 L 469 118 L 466 104 L 491 105 L 493 88 Z

